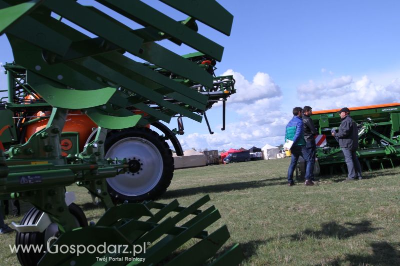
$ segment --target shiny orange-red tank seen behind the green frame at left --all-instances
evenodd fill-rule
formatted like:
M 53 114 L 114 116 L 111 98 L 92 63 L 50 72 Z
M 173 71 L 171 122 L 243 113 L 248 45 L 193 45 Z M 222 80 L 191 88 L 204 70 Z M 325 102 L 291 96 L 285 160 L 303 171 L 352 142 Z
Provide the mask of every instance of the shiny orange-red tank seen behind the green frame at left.
M 45 116 L 48 114 L 43 112 L 37 112 L 35 115 Z M 45 118 L 36 123 L 27 125 L 25 141 L 27 141 L 30 138 L 30 136 L 32 136 L 37 131 L 45 128 L 47 122 L 48 118 Z M 79 151 L 82 151 L 83 145 L 86 142 L 87 138 L 89 137 L 90 133 L 92 132 L 91 129 L 93 127 L 97 127 L 97 125 L 87 115 L 82 114 L 80 111 L 69 111 L 62 132 L 79 132 Z M 62 147 L 63 146 L 61 143 L 61 148 Z

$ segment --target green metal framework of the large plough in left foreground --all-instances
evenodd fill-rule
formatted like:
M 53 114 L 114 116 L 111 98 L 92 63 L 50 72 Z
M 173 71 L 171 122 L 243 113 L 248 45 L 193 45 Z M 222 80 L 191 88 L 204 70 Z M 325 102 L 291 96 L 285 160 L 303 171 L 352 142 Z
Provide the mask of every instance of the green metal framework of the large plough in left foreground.
M 209 200 L 208 196 L 187 208 L 180 207 L 176 200 L 168 205 L 146 202 L 114 206 L 105 179 L 124 173 L 128 165 L 125 158 L 104 159 L 103 147 L 108 129 L 158 120 L 169 122 L 178 114 L 201 121 L 201 116 L 194 112 L 203 113 L 216 100 L 226 100 L 235 92 L 231 76 L 213 76 L 215 60 L 221 60 L 223 47 L 199 34 L 195 23 L 198 19 L 229 35 L 232 15 L 214 0 L 190 4 L 162 0 L 188 15 L 178 21 L 139 0 L 97 1 L 143 27 L 131 29 L 103 11 L 75 0 L 0 0 L 0 34 L 7 35 L 15 60 L 15 65 L 6 67 L 9 88 L 3 114 L 8 110 L 17 115 L 21 110 L 51 110 L 47 126 L 26 143 L 11 145 L 6 151 L 8 159 L 0 152 L 0 197 L 29 201 L 48 214 L 61 233 L 53 245 L 107 242 L 126 244 L 128 251 L 134 251 L 134 245 L 150 242 L 147 252 L 140 255 L 147 265 L 159 263 L 182 246 L 184 251 L 170 259 L 168 265 L 186 265 L 188 261 L 239 264 L 243 255 L 237 245 L 218 259 L 211 259 L 229 233 L 225 226 L 210 235 L 205 231 L 220 218 L 213 206 L 198 209 Z M 96 37 L 64 23 L 64 18 Z M 179 56 L 155 42 L 161 39 L 184 43 L 197 52 Z M 150 64 L 136 62 L 125 53 Z M 27 95 L 34 100 L 27 100 Z M 98 130 L 82 152 L 63 157 L 59 143 L 71 109 L 86 113 Z M 144 113 L 133 114 L 133 109 Z M 6 121 L 11 122 L 12 119 Z M 4 138 L 9 141 L 7 136 Z M 74 182 L 104 204 L 106 212 L 95 225 L 76 228 L 64 195 L 64 186 Z M 177 214 L 168 217 L 173 212 Z M 191 239 L 199 241 L 186 248 Z M 51 253 L 39 262 L 76 264 L 99 263 L 90 254 Z

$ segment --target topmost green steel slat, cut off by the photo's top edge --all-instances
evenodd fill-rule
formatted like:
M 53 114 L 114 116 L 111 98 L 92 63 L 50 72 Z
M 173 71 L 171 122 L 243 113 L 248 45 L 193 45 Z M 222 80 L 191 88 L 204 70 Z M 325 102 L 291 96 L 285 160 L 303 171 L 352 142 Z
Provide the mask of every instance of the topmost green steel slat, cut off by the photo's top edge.
M 230 35 L 233 15 L 215 0 L 160 0 L 167 5 L 203 22 L 204 24 Z

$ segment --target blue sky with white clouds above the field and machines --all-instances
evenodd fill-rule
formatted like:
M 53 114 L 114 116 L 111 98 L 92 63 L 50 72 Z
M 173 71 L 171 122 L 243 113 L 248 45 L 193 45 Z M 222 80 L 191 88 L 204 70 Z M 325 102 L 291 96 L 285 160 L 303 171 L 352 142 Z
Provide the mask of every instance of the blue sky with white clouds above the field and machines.
M 144 2 L 185 18 L 159 1 Z M 224 132 L 217 106 L 207 113 L 214 135 L 205 122 L 184 119 L 184 149 L 279 145 L 295 106 L 321 110 L 400 101 L 400 1 L 218 2 L 234 16 L 231 35 L 204 25 L 199 31 L 225 47 L 216 73 L 233 74 L 237 94 L 228 99 Z M 180 54 L 192 51 L 161 44 Z M 5 36 L 0 51 L 0 62 L 12 60 Z M 0 88 L 6 88 L 4 75 Z

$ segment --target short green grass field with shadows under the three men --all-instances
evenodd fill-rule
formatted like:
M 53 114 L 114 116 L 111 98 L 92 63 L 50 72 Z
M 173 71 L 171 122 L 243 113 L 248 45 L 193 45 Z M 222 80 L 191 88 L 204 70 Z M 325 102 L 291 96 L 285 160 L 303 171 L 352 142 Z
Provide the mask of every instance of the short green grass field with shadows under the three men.
M 400 265 L 400 168 L 364 173 L 364 179 L 322 177 L 313 187 L 287 187 L 289 159 L 175 170 L 160 202 L 187 206 L 209 194 L 243 265 Z M 103 210 L 76 186 L 88 221 Z M 208 207 L 206 206 L 206 207 Z M 21 217 L 19 217 L 19 220 Z M 10 223 L 15 219 L 6 219 Z M 17 265 L 9 252 L 15 233 L 0 236 L 0 265 Z

